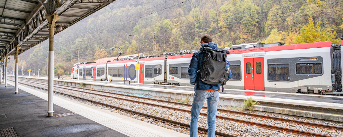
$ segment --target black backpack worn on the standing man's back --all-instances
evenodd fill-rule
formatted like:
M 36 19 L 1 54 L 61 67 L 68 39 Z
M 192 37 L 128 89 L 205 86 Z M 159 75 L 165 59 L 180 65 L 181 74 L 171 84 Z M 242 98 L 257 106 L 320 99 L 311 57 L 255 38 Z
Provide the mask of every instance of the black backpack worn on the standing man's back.
M 224 85 L 229 75 L 229 70 L 226 70 L 226 54 L 230 52 L 227 50 L 218 51 L 210 47 L 204 47 L 201 51 L 205 52 L 200 74 L 201 81 L 210 85 L 221 84 L 222 92 L 224 92 Z

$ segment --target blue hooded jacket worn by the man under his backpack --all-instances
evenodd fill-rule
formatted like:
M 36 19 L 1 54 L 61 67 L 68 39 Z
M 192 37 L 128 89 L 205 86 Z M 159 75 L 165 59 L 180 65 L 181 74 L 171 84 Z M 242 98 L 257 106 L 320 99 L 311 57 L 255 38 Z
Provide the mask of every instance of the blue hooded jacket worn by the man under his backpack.
M 194 91 L 216 91 L 216 90 L 220 91 L 220 86 L 221 86 L 220 84 L 210 85 L 210 84 L 204 83 L 197 76 L 198 70 L 201 71 L 202 69 L 202 62 L 204 59 L 205 52 L 201 52 L 201 50 L 204 47 L 210 47 L 212 49 L 218 50 L 217 44 L 214 42 L 201 44 L 200 51 L 197 51 L 193 54 L 192 59 L 189 63 L 189 68 L 188 68 L 188 75 L 189 75 L 189 81 L 190 81 L 189 83 L 192 85 L 196 85 L 194 86 Z M 226 68 L 230 69 L 229 65 L 226 65 Z M 229 80 L 230 77 L 231 77 L 231 70 L 229 70 L 229 76 L 227 80 Z M 197 85 L 198 84 L 197 79 L 199 79 L 199 88 Z

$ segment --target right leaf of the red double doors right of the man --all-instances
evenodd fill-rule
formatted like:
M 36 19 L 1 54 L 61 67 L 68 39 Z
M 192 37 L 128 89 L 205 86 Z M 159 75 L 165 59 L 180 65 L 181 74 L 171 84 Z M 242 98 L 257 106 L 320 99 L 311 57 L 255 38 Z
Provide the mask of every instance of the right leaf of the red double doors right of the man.
M 254 61 L 254 88 L 255 90 L 264 91 L 264 72 L 263 57 L 253 58 Z

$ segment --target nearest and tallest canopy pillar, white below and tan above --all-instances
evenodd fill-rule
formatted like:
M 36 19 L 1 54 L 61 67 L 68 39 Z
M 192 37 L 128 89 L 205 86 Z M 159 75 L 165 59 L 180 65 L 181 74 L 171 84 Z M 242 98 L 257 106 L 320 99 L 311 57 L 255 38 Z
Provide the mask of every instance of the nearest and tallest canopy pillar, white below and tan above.
M 54 36 L 58 14 L 45 15 L 49 22 L 49 78 L 48 78 L 48 117 L 54 115 Z

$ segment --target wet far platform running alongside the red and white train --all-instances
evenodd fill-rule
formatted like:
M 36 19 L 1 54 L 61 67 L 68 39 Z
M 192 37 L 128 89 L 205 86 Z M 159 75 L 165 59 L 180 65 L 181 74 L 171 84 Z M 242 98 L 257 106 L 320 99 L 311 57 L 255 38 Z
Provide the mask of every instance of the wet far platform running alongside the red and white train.
M 19 76 L 19 80 L 21 79 L 47 82 L 47 78 Z M 85 83 L 87 88 L 114 90 L 123 94 L 149 94 L 152 96 L 169 96 L 171 98 L 177 96 L 178 99 L 190 97 L 190 100 L 192 100 L 192 94 L 194 94 L 194 91 L 192 90 L 193 87 L 188 86 L 137 83 L 124 84 L 122 82 L 55 79 L 56 84 L 68 86 L 78 86 L 81 82 Z M 225 89 L 224 92 L 220 92 L 219 97 L 220 100 L 218 105 L 222 106 L 240 107 L 243 106 L 244 100 L 252 98 L 252 100 L 258 101 L 260 104 L 254 106 L 254 109 L 258 111 L 343 121 L 343 96 Z

